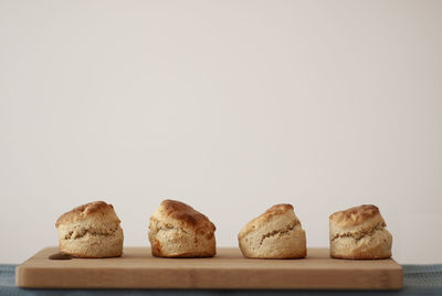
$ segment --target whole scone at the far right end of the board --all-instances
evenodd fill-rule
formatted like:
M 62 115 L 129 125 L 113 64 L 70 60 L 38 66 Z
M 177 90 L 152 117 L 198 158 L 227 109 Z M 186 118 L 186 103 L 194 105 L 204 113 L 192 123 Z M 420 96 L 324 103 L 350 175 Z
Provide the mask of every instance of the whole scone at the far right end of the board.
M 375 260 L 391 256 L 392 236 L 379 209 L 364 204 L 329 216 L 330 256 Z

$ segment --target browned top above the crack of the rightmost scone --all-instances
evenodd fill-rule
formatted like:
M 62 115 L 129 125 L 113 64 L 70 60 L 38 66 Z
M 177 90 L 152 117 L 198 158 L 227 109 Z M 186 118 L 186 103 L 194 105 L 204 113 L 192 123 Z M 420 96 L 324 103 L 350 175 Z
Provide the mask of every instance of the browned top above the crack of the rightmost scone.
M 362 224 L 385 223 L 378 207 L 373 204 L 362 204 L 345 211 L 339 211 L 329 216 L 330 224 L 339 228 L 355 228 Z

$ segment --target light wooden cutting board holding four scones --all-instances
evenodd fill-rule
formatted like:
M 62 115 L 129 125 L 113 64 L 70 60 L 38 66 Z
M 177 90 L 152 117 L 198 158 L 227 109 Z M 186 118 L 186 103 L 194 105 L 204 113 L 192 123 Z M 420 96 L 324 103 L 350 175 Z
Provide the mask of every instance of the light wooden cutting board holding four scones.
M 263 288 L 400 289 L 393 260 L 351 261 L 308 249 L 303 260 L 253 260 L 221 247 L 212 258 L 158 258 L 148 247 L 126 247 L 117 258 L 49 260 L 48 247 L 18 266 L 15 282 L 29 288 Z

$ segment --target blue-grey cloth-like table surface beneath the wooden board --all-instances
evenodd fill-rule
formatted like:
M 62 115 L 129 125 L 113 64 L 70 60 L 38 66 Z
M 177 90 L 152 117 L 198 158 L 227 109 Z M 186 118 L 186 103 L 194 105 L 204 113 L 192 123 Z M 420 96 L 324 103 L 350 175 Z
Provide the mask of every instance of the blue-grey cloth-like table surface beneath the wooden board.
M 170 295 L 171 290 L 91 290 L 91 289 L 22 289 L 15 286 L 17 265 L 0 264 L 0 295 Z M 404 287 L 387 290 L 173 290 L 175 295 L 442 295 L 442 264 L 402 265 Z

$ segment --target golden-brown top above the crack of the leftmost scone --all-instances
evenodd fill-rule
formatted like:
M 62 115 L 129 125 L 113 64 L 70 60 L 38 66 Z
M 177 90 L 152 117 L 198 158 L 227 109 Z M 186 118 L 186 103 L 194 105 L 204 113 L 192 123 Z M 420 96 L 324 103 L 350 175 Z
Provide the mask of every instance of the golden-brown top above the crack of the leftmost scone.
M 95 222 L 104 223 L 120 222 L 112 204 L 107 204 L 104 201 L 94 201 L 76 207 L 75 209 L 62 214 L 56 220 L 55 226 L 59 228 L 62 224 L 71 224 L 85 220 L 94 220 Z

